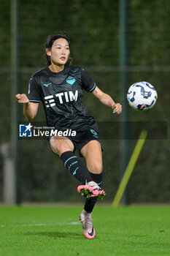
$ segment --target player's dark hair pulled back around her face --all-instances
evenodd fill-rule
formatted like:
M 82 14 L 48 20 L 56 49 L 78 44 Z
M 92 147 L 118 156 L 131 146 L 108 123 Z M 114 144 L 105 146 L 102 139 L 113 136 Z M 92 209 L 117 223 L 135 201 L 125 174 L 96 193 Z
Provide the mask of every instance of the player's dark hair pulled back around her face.
M 51 50 L 53 46 L 53 42 L 59 38 L 66 39 L 66 41 L 69 43 L 69 48 L 70 48 L 70 39 L 66 34 L 50 34 L 45 41 L 45 48 L 48 48 Z M 47 53 L 45 53 L 45 55 L 47 59 L 47 64 L 49 66 L 51 64 L 50 56 L 47 56 Z M 70 56 L 66 64 L 69 64 L 69 65 L 72 64 L 72 58 Z

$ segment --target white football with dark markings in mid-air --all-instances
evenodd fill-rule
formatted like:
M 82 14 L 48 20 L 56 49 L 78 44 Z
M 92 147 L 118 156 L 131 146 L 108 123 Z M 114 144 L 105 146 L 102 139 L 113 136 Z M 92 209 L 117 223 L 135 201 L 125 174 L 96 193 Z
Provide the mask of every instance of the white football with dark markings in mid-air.
M 129 87 L 127 93 L 128 104 L 137 110 L 148 110 L 152 108 L 158 94 L 150 83 L 139 82 Z

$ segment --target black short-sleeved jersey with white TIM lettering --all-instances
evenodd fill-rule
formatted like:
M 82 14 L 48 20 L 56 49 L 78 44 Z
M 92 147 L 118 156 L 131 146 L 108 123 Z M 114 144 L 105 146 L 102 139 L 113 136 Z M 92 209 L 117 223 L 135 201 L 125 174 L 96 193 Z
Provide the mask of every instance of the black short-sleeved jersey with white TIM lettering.
M 51 72 L 45 67 L 32 75 L 28 99 L 42 101 L 49 127 L 77 131 L 97 129 L 95 119 L 82 105 L 82 89 L 93 91 L 95 87 L 94 80 L 81 67 L 65 65 L 61 72 Z

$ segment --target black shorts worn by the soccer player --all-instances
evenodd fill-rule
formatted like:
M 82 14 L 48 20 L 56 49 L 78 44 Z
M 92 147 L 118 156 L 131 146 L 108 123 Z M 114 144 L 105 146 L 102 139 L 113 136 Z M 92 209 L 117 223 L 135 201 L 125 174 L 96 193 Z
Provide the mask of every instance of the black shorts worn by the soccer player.
M 101 140 L 98 137 L 98 132 L 94 129 L 87 129 L 83 132 L 76 132 L 76 136 L 65 136 L 74 144 L 74 151 L 77 149 L 78 154 L 82 157 L 81 149 L 90 141 L 97 140 L 101 144 Z M 103 151 L 101 145 L 101 151 Z

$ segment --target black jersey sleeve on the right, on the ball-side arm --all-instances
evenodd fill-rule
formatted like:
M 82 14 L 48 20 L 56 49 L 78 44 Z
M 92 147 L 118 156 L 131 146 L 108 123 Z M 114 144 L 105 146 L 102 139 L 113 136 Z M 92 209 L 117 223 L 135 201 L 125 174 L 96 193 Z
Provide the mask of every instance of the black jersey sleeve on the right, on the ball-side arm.
M 82 77 L 82 89 L 85 91 L 93 91 L 96 88 L 96 83 L 91 78 L 90 74 L 85 71 L 85 69 L 81 69 L 81 77 Z

